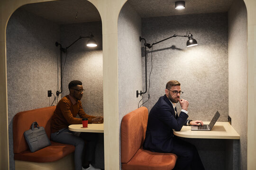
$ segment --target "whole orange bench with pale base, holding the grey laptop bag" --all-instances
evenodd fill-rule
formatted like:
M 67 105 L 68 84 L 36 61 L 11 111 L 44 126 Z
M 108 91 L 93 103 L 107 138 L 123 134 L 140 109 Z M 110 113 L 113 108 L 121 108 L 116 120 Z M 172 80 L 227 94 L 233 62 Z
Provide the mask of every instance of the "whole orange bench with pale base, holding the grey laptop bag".
M 15 167 L 18 170 L 73 170 L 73 152 L 71 144 L 61 144 L 51 141 L 51 145 L 34 153 L 29 151 L 23 133 L 31 127 L 34 121 L 44 127 L 50 139 L 51 118 L 56 106 L 27 110 L 17 113 L 13 118 L 13 152 Z

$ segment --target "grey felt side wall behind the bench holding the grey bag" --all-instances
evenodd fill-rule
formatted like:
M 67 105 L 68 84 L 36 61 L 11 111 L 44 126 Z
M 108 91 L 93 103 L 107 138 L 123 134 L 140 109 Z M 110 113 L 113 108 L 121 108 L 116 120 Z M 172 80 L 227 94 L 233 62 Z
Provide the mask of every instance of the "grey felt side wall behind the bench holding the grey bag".
M 57 91 L 55 41 L 60 40 L 59 26 L 27 11 L 16 10 L 6 30 L 7 89 L 10 170 L 13 159 L 12 119 L 20 111 L 49 106 Z

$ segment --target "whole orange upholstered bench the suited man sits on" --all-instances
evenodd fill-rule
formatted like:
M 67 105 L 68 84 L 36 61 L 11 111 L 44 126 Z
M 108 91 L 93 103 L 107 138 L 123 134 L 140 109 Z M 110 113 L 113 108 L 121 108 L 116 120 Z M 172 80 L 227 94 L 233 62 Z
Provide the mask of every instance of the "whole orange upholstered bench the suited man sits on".
M 177 156 L 144 150 L 148 112 L 138 108 L 125 115 L 121 122 L 122 170 L 172 170 Z

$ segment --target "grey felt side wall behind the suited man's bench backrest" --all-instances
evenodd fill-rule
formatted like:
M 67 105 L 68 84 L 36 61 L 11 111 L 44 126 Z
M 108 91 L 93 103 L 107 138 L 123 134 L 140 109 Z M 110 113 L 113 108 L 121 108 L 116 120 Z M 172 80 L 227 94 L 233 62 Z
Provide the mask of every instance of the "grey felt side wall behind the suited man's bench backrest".
M 140 35 L 141 18 L 125 3 L 118 17 L 119 129 L 123 116 L 137 109 L 141 99 L 136 97 L 136 90 L 142 90 Z

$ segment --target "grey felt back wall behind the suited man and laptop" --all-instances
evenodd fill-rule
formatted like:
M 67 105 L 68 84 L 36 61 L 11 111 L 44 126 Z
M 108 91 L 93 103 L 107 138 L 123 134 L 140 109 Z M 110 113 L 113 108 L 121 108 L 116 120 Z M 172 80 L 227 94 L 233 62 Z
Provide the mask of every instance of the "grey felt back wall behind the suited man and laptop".
M 150 77 L 150 99 L 146 102 L 148 93 L 143 96 L 143 102 L 146 102 L 144 106 L 150 110 L 158 98 L 165 94 L 166 83 L 178 80 L 184 92 L 181 97 L 189 101 L 189 119 L 210 121 L 219 110 L 219 121 L 227 121 L 227 13 L 142 18 L 142 37 L 147 43 L 158 42 L 173 34 L 186 35 L 187 31 L 197 40 L 197 46 L 186 47 L 188 38 L 184 37 L 160 42 L 153 46 L 152 64 L 152 49 L 147 49 L 148 78 L 151 66 L 153 69 Z M 145 71 L 142 75 L 145 82 Z M 180 107 L 177 108 L 181 110 Z

